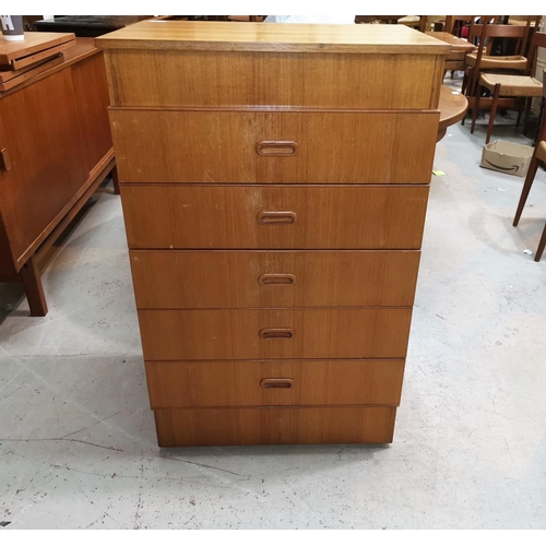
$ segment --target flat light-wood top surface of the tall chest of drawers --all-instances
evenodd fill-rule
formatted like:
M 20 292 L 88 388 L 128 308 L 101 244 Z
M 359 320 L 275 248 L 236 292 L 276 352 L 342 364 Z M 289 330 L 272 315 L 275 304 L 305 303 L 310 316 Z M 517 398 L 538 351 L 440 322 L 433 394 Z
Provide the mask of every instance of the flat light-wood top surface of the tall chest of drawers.
M 379 25 L 377 25 L 379 26 Z M 97 38 L 106 49 L 442 55 L 449 45 L 405 26 L 142 21 Z

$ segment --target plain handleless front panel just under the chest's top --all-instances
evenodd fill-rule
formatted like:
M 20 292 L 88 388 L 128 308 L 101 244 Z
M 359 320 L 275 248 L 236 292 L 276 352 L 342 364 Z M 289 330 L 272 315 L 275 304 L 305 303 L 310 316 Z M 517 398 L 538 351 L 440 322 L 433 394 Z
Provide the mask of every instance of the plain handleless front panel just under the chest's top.
M 114 106 L 435 109 L 436 55 L 105 51 Z

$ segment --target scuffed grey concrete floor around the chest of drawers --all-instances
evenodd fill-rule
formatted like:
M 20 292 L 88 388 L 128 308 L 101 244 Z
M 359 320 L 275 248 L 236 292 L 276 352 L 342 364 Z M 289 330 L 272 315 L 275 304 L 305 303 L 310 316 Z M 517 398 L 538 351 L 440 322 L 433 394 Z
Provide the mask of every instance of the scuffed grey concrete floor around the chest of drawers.
M 438 144 L 394 443 L 158 449 L 117 195 L 52 253 L 46 318 L 0 285 L 5 529 L 546 527 L 546 219 L 539 171 Z M 529 143 L 507 121 L 496 136 Z M 13 307 L 13 310 L 10 310 Z

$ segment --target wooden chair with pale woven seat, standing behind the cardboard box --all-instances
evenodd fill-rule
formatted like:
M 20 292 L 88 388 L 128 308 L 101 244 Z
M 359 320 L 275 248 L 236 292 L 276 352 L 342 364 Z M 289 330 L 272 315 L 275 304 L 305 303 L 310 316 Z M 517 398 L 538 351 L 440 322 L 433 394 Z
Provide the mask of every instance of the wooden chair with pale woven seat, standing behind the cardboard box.
M 518 28 L 518 27 L 514 27 Z M 489 90 L 492 93 L 491 111 L 489 115 L 489 124 L 487 127 L 486 144 L 489 142 L 492 133 L 492 126 L 495 122 L 495 116 L 497 114 L 497 107 L 499 105 L 500 97 L 510 97 L 525 99 L 525 122 L 523 126 L 523 131 L 526 132 L 529 122 L 529 112 L 531 110 L 531 99 L 533 97 L 541 97 L 543 95 L 543 84 L 534 75 L 536 73 L 536 61 L 538 57 L 538 48 L 546 47 L 546 34 L 535 33 L 533 37 L 533 43 L 531 44 L 531 57 L 527 62 L 526 75 L 513 75 L 513 74 L 495 74 L 483 72 L 479 76 L 478 85 L 476 86 L 476 98 L 474 100 L 473 112 L 472 112 L 472 127 L 471 133 L 474 132 L 474 127 L 476 124 L 477 112 L 479 110 L 479 99 L 482 96 L 482 91 L 484 88 Z M 509 108 L 510 106 L 503 105 Z M 511 106 L 513 108 L 513 106 Z M 521 110 L 518 115 L 519 126 L 521 117 Z

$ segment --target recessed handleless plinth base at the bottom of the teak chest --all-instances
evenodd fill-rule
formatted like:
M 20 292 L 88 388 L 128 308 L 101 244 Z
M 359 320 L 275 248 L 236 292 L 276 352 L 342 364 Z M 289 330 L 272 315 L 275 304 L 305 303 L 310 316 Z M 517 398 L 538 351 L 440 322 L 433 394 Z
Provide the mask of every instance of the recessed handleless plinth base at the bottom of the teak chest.
M 156 410 L 161 447 L 268 443 L 390 443 L 395 407 Z

